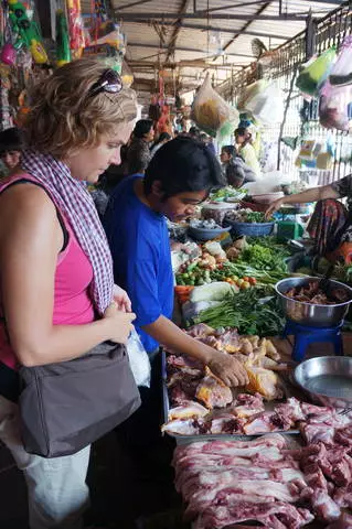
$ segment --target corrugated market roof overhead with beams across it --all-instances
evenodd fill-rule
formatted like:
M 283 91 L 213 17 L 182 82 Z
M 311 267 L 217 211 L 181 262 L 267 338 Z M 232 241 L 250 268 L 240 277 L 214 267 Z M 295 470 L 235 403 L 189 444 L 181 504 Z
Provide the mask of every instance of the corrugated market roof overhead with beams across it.
M 173 85 L 178 79 L 184 89 L 199 86 L 209 69 L 222 83 L 232 68 L 255 61 L 254 37 L 259 37 L 267 48 L 275 48 L 305 30 L 303 19 L 309 11 L 321 18 L 341 3 L 338 0 L 111 0 L 116 20 L 121 21 L 127 36 L 127 62 L 137 88 L 143 90 L 152 89 L 160 68 L 171 68 Z M 90 12 L 90 0 L 82 0 L 85 13 Z M 180 14 L 178 19 L 181 10 L 185 17 Z M 180 21 L 181 28 L 177 29 Z M 172 40 L 174 48 L 168 50 Z

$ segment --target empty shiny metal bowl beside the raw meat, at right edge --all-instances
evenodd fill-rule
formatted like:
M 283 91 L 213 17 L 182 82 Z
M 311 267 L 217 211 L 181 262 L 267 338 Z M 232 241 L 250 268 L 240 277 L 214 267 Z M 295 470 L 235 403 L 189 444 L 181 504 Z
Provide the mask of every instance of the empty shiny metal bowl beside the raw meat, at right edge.
M 352 402 L 352 357 L 310 358 L 296 367 L 295 380 L 313 401 L 348 408 Z

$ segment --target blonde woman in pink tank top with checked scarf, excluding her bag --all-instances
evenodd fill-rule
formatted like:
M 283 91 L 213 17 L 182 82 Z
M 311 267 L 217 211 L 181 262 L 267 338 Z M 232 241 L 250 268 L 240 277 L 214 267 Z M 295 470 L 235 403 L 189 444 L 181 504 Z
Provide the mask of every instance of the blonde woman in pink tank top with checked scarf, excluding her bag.
M 22 169 L 0 186 L 0 440 L 24 473 L 31 529 L 78 529 L 89 446 L 46 460 L 21 443 L 17 366 L 126 343 L 135 315 L 84 182 L 95 183 L 134 128 L 136 100 L 95 60 L 57 69 L 33 93 Z M 114 301 L 115 300 L 115 301 Z

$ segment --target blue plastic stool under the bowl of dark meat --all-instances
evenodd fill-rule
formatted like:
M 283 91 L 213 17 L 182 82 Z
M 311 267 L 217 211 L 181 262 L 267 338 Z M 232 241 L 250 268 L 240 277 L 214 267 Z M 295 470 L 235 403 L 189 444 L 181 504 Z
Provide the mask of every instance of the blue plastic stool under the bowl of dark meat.
M 308 345 L 314 342 L 329 342 L 334 346 L 334 354 L 343 356 L 342 326 L 343 322 L 335 327 L 309 327 L 308 325 L 300 325 L 288 320 L 284 328 L 282 338 L 289 335 L 295 336 L 292 349 L 292 359 L 295 361 L 301 361 L 305 358 Z

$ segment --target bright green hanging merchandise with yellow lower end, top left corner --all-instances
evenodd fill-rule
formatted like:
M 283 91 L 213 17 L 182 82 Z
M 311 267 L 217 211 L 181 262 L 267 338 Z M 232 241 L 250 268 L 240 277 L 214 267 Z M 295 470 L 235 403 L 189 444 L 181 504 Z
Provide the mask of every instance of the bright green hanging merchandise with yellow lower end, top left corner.
M 26 46 L 36 64 L 47 63 L 40 30 L 36 23 L 30 20 L 24 4 L 15 0 L 8 0 L 8 6 L 12 31 L 17 34 L 14 46 L 18 50 L 23 45 Z

